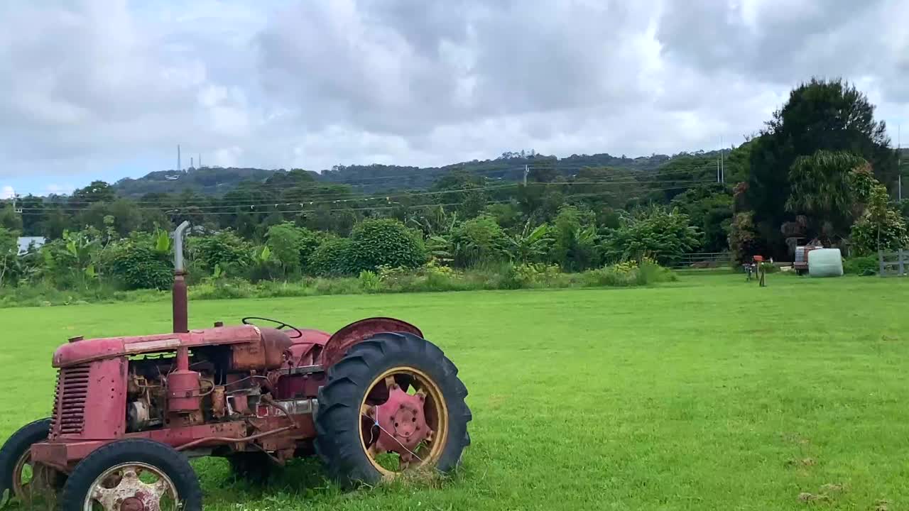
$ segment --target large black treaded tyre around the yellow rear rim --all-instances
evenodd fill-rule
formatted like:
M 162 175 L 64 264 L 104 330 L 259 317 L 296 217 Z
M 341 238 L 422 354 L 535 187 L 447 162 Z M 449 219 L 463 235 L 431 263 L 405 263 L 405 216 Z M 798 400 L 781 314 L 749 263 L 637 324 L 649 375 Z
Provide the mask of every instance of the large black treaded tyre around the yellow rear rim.
M 472 416 L 464 397 L 467 387 L 438 346 L 405 333 L 385 333 L 358 343 L 335 366 L 328 368 L 325 386 L 319 389 L 319 410 L 315 419 L 315 452 L 328 475 L 345 488 L 376 485 L 382 474 L 367 458 L 360 436 L 360 403 L 367 386 L 395 366 L 412 366 L 429 377 L 442 392 L 448 408 L 448 436 L 435 469 L 443 474 L 461 462 L 470 444 L 467 423 Z

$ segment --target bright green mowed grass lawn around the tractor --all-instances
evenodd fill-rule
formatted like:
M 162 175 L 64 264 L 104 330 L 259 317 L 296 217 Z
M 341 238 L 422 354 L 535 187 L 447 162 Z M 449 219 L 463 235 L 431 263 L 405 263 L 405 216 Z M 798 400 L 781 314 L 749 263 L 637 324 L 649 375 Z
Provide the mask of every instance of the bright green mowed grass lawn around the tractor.
M 196 466 L 206 508 L 907 509 L 909 280 L 683 275 L 601 290 L 190 304 L 334 331 L 399 316 L 470 389 L 474 445 L 441 485 L 344 494 L 318 464 L 271 486 Z M 55 346 L 165 332 L 168 303 L 0 310 L 0 436 L 51 408 Z M 810 494 L 810 495 L 807 495 Z

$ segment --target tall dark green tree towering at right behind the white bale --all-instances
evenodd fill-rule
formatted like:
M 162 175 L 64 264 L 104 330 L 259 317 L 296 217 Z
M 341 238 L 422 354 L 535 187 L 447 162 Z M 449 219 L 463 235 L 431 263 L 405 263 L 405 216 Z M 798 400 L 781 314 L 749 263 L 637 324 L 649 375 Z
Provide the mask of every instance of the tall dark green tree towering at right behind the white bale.
M 834 235 L 848 230 L 841 222 L 849 204 L 844 176 L 863 158 L 879 181 L 895 184 L 896 155 L 889 144 L 886 126 L 874 120 L 874 105 L 853 85 L 812 79 L 796 87 L 754 141 L 744 194 L 772 255 L 786 257 L 793 244 L 787 251 L 785 238 L 807 241 L 817 226 L 823 233 L 829 224 Z M 814 219 L 798 222 L 797 215 Z M 781 228 L 793 222 L 807 225 L 808 232 Z

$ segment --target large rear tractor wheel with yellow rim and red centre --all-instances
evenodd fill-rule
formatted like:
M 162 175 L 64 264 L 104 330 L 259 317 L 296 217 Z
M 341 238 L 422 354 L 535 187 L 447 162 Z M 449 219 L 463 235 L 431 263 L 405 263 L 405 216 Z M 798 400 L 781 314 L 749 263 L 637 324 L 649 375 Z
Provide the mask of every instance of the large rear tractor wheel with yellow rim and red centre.
M 470 444 L 467 388 L 438 346 L 385 333 L 352 346 L 319 390 L 315 450 L 342 486 L 405 470 L 443 474 Z

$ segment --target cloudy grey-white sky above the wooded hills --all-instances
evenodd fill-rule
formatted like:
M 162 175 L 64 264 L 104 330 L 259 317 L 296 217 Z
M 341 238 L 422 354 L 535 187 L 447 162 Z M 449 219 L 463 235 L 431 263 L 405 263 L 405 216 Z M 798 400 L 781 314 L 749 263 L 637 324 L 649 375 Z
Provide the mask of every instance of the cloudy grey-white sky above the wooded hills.
M 739 144 L 812 75 L 906 127 L 901 0 L 0 0 L 0 186 Z

